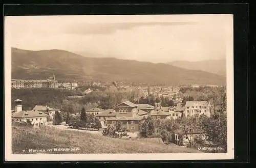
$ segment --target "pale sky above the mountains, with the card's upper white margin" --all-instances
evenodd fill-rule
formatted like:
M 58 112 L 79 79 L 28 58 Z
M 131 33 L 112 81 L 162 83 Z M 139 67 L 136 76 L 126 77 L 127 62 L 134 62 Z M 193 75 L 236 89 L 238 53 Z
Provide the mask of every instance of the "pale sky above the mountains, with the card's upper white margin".
M 9 16 L 11 46 L 165 63 L 220 60 L 232 15 Z

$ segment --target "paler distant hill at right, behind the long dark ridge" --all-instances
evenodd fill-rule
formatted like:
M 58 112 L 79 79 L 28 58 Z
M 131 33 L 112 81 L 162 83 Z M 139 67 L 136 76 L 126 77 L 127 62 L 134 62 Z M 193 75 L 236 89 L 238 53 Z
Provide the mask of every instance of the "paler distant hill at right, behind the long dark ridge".
M 168 64 L 184 69 L 202 70 L 226 76 L 226 60 L 209 60 L 199 62 L 175 61 Z

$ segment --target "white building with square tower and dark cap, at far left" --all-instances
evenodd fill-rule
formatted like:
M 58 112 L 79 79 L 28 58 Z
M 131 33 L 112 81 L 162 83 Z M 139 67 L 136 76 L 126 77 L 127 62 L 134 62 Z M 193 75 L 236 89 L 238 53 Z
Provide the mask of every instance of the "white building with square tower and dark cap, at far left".
M 22 100 L 16 99 L 15 110 L 12 110 L 12 122 L 20 123 L 30 120 L 35 126 L 47 125 L 47 114 L 37 110 L 22 110 Z

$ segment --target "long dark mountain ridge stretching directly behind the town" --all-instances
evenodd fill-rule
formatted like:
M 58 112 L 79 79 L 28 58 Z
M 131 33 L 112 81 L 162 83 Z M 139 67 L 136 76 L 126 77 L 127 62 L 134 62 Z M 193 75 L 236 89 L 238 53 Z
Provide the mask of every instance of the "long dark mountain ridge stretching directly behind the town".
M 187 70 L 163 63 L 115 58 L 83 57 L 65 50 L 30 51 L 12 48 L 12 78 L 57 80 L 126 81 L 168 85 L 222 85 L 224 76 L 201 70 Z

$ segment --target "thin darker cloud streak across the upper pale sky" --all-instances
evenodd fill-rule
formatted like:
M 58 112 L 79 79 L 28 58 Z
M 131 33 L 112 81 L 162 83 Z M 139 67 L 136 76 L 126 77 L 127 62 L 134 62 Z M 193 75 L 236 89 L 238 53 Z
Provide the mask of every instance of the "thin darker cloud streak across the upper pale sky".
M 112 34 L 117 30 L 130 30 L 141 26 L 172 26 L 172 25 L 189 25 L 197 22 L 130 22 L 130 23 L 90 23 L 90 24 L 73 24 L 64 28 L 66 34 Z

